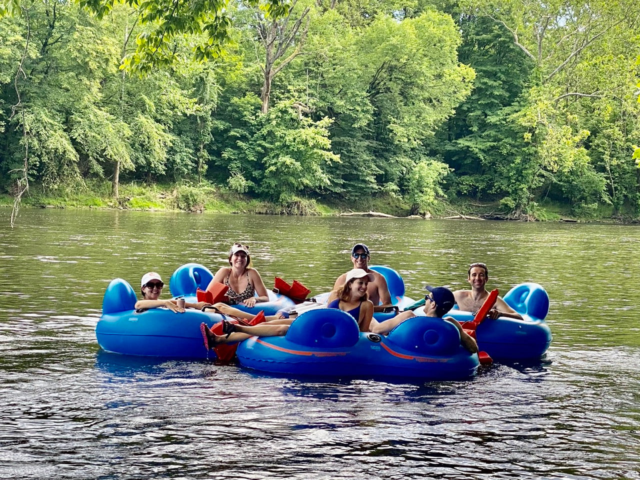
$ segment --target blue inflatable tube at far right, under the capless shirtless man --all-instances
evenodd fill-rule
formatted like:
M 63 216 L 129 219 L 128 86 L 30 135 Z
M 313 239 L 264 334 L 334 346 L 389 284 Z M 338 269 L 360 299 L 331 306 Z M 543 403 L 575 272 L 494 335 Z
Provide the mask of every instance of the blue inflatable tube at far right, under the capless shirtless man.
M 549 311 L 547 291 L 538 284 L 520 284 L 513 287 L 503 300 L 524 320 L 508 317 L 484 319 L 476 328 L 478 348 L 486 351 L 493 360 L 515 362 L 540 358 L 552 340 L 551 329 L 545 321 Z M 446 316 L 454 317 L 460 323 L 474 319 L 472 313 L 461 310 L 451 310 Z

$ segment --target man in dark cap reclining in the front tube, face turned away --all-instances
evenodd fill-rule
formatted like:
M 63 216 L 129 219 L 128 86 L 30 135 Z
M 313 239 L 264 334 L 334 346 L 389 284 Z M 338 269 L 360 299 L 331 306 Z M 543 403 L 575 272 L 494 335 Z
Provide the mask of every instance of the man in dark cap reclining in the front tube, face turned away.
M 426 300 L 424 307 L 418 308 L 416 312 L 420 316 L 443 318 L 442 316 L 447 314 L 447 312 L 449 312 L 456 303 L 453 292 L 445 287 L 427 287 L 427 290 L 429 291 L 429 294 L 424 297 L 424 300 Z M 369 330 L 373 333 L 387 335 L 387 333 L 391 332 L 391 330 L 396 328 L 397 325 L 415 316 L 416 314 L 411 310 L 406 310 L 406 312 L 402 312 L 401 314 L 383 322 L 378 322 L 376 319 L 373 319 L 369 325 Z M 477 353 L 478 346 L 476 340 L 463 330 L 460 323 L 458 323 L 458 321 L 453 317 L 444 317 L 444 320 L 451 322 L 456 326 L 456 328 L 458 328 L 458 332 L 460 332 L 460 343 L 462 346 L 471 353 Z

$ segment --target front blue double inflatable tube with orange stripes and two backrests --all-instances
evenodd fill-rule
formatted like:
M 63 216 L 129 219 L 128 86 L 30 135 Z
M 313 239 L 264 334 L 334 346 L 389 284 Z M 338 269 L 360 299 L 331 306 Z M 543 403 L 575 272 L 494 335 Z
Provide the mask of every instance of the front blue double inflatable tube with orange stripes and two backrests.
M 236 354 L 255 370 L 332 378 L 464 380 L 479 365 L 460 345 L 456 327 L 442 319 L 413 319 L 381 337 L 360 333 L 351 315 L 333 308 L 304 312 L 284 337 L 244 340 Z

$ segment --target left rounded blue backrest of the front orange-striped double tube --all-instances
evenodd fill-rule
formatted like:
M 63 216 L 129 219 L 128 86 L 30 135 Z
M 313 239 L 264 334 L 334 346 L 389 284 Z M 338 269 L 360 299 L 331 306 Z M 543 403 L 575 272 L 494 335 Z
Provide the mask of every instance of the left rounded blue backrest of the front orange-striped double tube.
M 360 338 L 355 319 L 337 308 L 307 310 L 296 318 L 285 338 L 314 348 L 352 347 Z

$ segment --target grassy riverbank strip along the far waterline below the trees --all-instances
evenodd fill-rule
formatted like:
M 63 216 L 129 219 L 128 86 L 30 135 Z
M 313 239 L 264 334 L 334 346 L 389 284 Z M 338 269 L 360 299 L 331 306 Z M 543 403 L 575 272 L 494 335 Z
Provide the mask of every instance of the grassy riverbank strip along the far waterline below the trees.
M 13 198 L 8 194 L 0 195 L 0 206 L 11 207 Z M 42 208 L 79 208 L 79 209 L 125 209 L 141 211 L 189 211 L 254 214 L 291 214 L 291 215 L 337 215 L 340 212 L 381 212 L 394 216 L 407 216 L 410 205 L 390 195 L 360 198 L 356 202 L 333 199 L 328 201 L 311 198 L 292 197 L 285 204 L 275 204 L 265 200 L 239 195 L 233 191 L 201 184 L 142 184 L 131 182 L 120 185 L 117 200 L 111 198 L 109 182 L 86 182 L 77 188 L 42 189 L 31 186 L 27 195 L 22 197 L 24 207 Z M 509 220 L 511 212 L 501 207 L 499 202 L 474 202 L 468 198 L 456 198 L 436 204 L 431 216 L 447 218 L 470 216 Z M 616 215 L 612 209 L 600 208 L 588 214 L 572 212 L 570 205 L 545 202 L 535 205 L 529 213 L 530 220 L 540 221 L 637 221 L 632 214 Z

